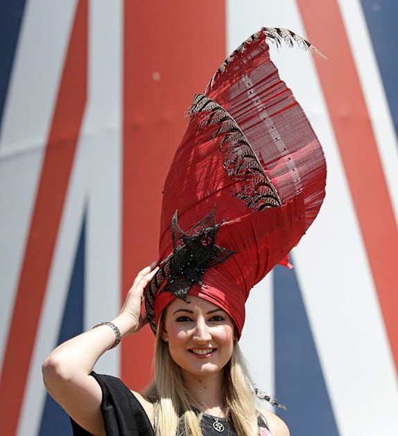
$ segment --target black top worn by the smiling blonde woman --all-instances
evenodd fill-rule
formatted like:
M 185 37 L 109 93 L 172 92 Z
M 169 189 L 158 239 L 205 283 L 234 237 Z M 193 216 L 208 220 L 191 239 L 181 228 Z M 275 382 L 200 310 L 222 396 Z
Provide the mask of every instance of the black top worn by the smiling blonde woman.
M 92 372 L 94 379 L 100 385 L 103 397 L 101 402 L 101 412 L 105 425 L 105 433 L 107 436 L 155 436 L 155 431 L 150 423 L 148 415 L 141 403 L 137 400 L 130 389 L 114 376 L 101 375 Z M 216 417 L 202 414 L 201 428 L 205 436 L 236 436 L 236 432 L 232 423 L 227 418 L 218 418 L 218 422 L 224 426 L 222 433 L 214 429 L 213 422 Z M 91 433 L 76 424 L 71 419 L 73 428 L 73 436 L 89 436 Z M 268 431 L 266 423 L 259 417 L 259 427 L 264 431 Z M 268 433 L 263 433 L 261 435 Z M 179 436 L 184 436 L 183 425 L 182 433 Z M 269 433 L 270 435 L 270 433 Z

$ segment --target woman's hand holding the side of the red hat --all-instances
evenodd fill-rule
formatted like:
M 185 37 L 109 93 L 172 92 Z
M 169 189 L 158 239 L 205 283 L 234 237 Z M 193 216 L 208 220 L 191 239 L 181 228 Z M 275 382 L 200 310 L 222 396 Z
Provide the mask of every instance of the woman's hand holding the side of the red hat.
M 123 325 L 123 330 L 126 331 L 125 334 L 137 333 L 146 325 L 146 316 L 141 313 L 144 290 L 158 269 L 157 261 L 141 269 L 128 291 L 123 307 L 113 321 L 116 325 Z

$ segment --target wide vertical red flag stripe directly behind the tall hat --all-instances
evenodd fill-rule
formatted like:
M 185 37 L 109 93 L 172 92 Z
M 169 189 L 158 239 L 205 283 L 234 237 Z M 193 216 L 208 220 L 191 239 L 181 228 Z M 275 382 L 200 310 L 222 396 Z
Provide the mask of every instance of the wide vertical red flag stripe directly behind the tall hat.
M 223 62 L 225 35 L 224 1 L 124 1 L 123 296 L 135 273 L 157 258 L 162 187 L 184 113 Z M 149 328 L 128 338 L 123 381 L 143 388 L 152 355 Z

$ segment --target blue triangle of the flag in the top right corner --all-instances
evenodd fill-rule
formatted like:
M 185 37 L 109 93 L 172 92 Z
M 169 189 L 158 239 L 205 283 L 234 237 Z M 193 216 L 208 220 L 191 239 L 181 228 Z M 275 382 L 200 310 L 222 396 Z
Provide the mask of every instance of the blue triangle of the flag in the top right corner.
M 361 0 L 361 4 L 394 122 L 395 134 L 398 135 L 398 1 Z

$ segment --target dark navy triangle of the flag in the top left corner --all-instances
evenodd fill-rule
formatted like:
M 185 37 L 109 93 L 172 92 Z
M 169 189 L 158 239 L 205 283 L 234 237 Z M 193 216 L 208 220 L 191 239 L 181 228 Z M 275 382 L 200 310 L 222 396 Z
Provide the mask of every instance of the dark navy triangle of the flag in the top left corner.
M 0 130 L 26 0 L 0 2 Z

